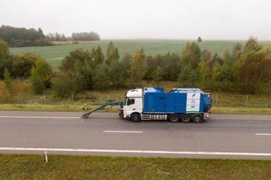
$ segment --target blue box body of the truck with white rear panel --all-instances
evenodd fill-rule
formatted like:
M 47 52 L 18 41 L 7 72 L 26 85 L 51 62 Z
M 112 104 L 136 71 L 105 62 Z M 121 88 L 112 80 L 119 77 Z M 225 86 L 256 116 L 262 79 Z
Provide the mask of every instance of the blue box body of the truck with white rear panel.
M 203 113 L 211 107 L 211 96 L 200 89 L 173 88 L 164 92 L 163 88 L 144 88 L 143 112 L 148 113 Z

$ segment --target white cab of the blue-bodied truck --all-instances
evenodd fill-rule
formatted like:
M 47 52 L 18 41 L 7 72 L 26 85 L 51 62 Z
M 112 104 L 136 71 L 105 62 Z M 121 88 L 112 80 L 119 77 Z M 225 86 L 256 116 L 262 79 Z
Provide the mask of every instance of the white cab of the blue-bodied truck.
M 143 113 L 142 89 L 129 90 L 126 93 L 126 101 L 123 105 L 123 116 L 130 118 L 133 113 Z

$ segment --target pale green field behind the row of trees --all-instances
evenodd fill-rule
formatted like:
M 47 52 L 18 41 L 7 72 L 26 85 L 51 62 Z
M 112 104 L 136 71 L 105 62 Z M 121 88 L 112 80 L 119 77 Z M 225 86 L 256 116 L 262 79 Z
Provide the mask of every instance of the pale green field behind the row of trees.
M 191 40 L 193 41 L 193 40 Z M 68 55 L 70 51 L 76 48 L 84 48 L 91 51 L 91 48 L 101 46 L 103 53 L 106 51 L 106 46 L 109 41 L 99 41 L 98 43 L 83 43 L 83 44 L 68 44 L 58 46 L 43 46 L 43 47 L 24 47 L 24 48 L 10 48 L 11 53 L 36 53 L 45 58 L 53 68 L 57 68 L 61 60 Z M 143 48 L 148 55 L 157 55 L 165 53 L 181 53 L 185 43 L 188 40 L 116 40 L 113 41 L 121 56 L 126 53 L 133 54 L 136 50 Z M 245 41 L 203 41 L 200 43 L 200 49 L 208 49 L 223 55 L 225 50 L 232 51 L 235 43 L 245 43 Z M 271 42 L 262 42 L 266 48 L 271 48 Z

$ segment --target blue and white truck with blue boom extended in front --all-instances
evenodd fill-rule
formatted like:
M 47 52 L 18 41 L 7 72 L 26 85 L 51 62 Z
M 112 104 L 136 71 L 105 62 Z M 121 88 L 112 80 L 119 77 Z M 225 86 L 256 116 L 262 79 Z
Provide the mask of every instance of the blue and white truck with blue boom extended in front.
M 124 103 L 108 102 L 91 112 L 120 105 L 119 116 L 132 122 L 169 120 L 173 123 L 200 123 L 210 119 L 211 94 L 199 88 L 173 88 L 169 92 L 164 92 L 163 88 L 136 88 L 126 92 L 125 98 Z M 88 117 L 91 112 L 82 117 Z

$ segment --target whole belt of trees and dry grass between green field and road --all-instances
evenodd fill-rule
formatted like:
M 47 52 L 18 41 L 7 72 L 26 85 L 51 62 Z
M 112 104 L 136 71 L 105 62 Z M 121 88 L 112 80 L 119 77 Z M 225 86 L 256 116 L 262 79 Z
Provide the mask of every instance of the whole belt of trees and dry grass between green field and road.
M 131 88 L 160 86 L 212 92 L 215 107 L 271 107 L 271 52 L 253 37 L 222 57 L 188 42 L 180 54 L 153 56 L 141 48 L 121 58 L 110 41 L 106 53 L 101 46 L 71 51 L 58 69 L 33 53 L 12 55 L 5 41 L 0 48 L 5 104 L 102 105 L 123 100 Z

